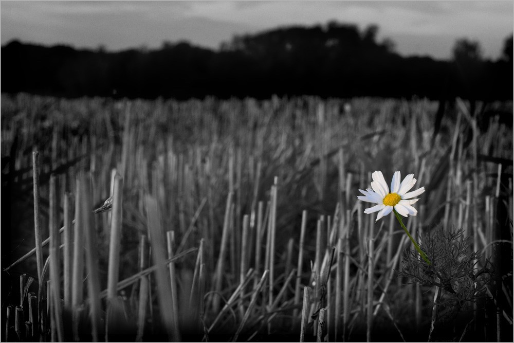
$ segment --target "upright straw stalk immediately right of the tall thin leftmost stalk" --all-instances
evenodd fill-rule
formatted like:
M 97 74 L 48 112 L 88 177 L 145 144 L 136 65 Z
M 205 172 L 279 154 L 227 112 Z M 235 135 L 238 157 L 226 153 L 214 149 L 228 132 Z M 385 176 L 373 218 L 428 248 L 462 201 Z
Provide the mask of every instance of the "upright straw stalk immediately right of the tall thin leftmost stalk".
M 59 259 L 59 209 L 57 200 L 56 176 L 50 175 L 50 281 L 53 300 L 53 316 L 59 341 L 64 341 L 64 328 L 61 310 L 61 278 Z

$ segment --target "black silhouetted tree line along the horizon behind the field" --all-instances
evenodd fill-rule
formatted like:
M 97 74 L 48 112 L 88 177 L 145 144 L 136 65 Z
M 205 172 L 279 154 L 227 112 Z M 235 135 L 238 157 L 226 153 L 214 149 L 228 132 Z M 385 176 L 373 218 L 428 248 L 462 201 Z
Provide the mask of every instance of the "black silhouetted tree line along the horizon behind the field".
M 471 100 L 512 99 L 512 37 L 502 59 L 483 61 L 476 42 L 456 42 L 452 61 L 403 58 L 336 22 L 236 36 L 219 51 L 187 42 L 157 50 L 75 50 L 13 41 L 2 47 L 2 91 L 128 98 L 318 95 Z M 510 53 L 509 53 L 510 51 Z

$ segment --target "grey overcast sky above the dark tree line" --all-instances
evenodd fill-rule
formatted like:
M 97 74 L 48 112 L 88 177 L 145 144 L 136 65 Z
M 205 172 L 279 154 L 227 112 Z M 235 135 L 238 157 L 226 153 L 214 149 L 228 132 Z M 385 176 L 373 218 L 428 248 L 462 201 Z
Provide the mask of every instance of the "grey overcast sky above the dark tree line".
M 337 20 L 380 28 L 403 56 L 448 59 L 457 38 L 497 59 L 512 32 L 512 1 L 181 1 L 0 3 L 2 45 L 12 39 L 108 51 L 187 40 L 217 49 L 234 34 Z

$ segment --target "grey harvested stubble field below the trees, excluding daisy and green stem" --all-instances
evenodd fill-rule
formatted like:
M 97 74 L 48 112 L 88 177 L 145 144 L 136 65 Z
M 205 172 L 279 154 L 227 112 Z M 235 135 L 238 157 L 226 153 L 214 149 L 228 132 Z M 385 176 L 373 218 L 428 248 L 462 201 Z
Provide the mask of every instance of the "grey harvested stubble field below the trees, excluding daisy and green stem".
M 472 107 L 2 95 L 2 338 L 511 341 L 512 103 Z

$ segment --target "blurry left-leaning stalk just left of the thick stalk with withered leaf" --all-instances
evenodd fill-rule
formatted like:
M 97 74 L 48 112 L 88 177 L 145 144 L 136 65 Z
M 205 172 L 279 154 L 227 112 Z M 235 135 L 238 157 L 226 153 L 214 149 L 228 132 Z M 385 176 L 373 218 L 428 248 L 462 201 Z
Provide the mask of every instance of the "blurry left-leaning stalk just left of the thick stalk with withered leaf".
M 80 175 L 80 189 L 81 194 L 78 201 L 80 204 L 79 227 L 85 234 L 86 269 L 88 274 L 87 295 L 89 313 L 91 316 L 91 335 L 93 341 L 98 341 L 101 317 L 100 298 L 98 296 L 100 293 L 100 279 L 98 276 L 98 244 L 96 242 L 96 232 L 93 225 L 93 212 L 91 212 L 91 208 L 93 208 L 93 206 L 91 203 L 90 178 L 84 173 Z M 78 242 L 76 246 L 82 246 L 82 242 Z

